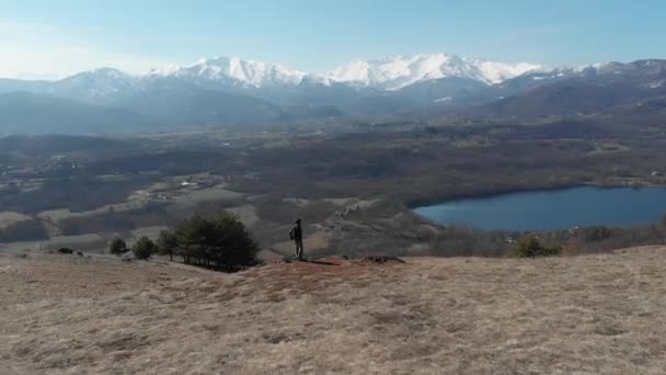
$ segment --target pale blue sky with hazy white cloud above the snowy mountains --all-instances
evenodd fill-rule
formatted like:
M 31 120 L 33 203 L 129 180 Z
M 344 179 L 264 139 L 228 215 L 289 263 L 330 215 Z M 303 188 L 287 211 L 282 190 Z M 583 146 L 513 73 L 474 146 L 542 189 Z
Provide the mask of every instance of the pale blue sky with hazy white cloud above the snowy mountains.
M 0 0 L 0 77 L 133 73 L 238 56 L 324 72 L 448 53 L 586 65 L 666 58 L 663 0 Z

